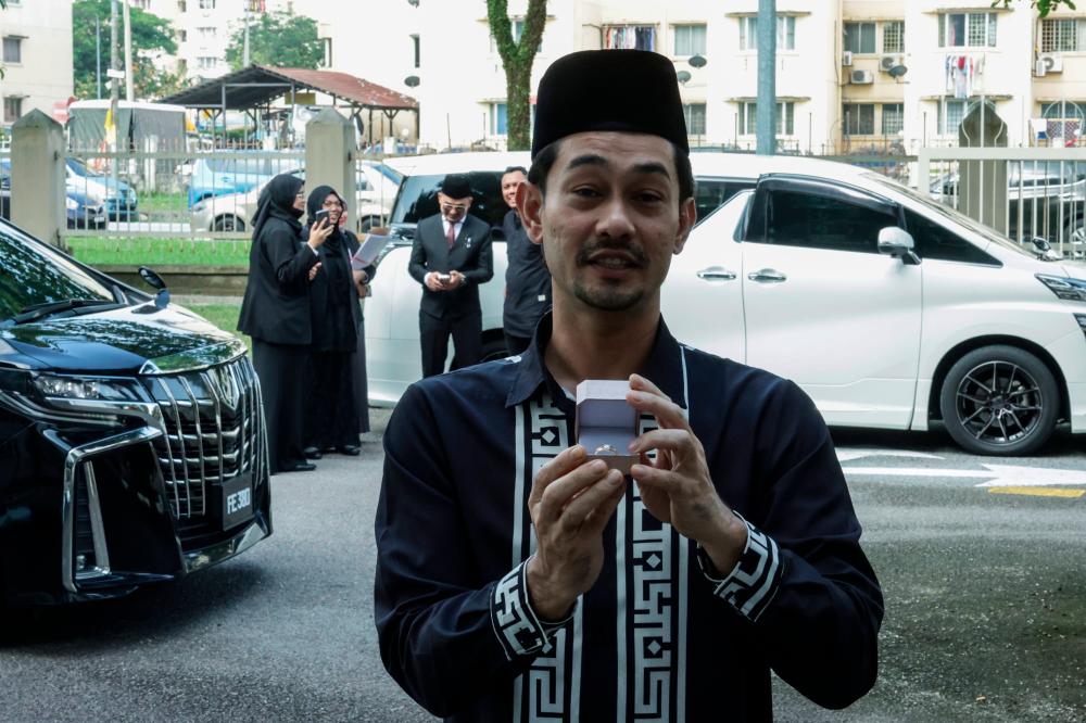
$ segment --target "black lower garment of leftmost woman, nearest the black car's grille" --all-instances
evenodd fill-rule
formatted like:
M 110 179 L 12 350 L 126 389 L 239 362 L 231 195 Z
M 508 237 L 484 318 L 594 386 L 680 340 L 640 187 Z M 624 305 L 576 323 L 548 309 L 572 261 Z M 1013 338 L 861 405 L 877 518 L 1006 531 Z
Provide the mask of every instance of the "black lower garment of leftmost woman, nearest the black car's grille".
M 310 347 L 253 339 L 253 367 L 261 379 L 272 473 L 305 461 L 306 391 L 312 376 Z

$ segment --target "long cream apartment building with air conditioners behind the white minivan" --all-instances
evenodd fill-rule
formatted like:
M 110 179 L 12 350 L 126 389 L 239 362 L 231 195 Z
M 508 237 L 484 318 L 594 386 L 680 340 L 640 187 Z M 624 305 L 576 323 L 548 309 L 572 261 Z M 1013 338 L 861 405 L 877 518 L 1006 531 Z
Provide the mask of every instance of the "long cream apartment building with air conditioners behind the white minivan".
M 1086 12 L 1062 8 L 1041 21 L 1025 0 L 1008 9 L 990 0 L 778 0 L 776 9 L 782 148 L 957 144 L 962 118 L 981 105 L 1006 123 L 1009 145 L 1072 142 L 1086 130 Z M 510 0 L 515 37 L 526 10 L 527 0 Z M 674 62 L 692 144 L 754 148 L 757 12 L 757 0 L 551 0 L 532 85 L 568 52 L 648 48 Z M 334 69 L 418 98 L 424 142 L 503 145 L 505 75 L 484 0 L 396 0 L 376 14 L 359 2 L 321 34 Z

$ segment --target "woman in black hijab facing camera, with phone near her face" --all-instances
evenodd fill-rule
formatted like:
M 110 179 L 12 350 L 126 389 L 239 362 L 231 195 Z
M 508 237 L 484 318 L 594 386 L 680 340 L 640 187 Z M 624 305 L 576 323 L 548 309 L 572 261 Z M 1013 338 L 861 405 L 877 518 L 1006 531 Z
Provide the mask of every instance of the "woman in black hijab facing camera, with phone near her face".
M 359 452 L 353 375 L 358 347 L 358 292 L 351 270 L 354 248 L 339 227 L 343 207 L 343 200 L 332 187 L 318 186 L 310 193 L 310 225 L 302 231 L 302 238 L 314 233 L 317 213 L 328 212 L 333 230 L 318 252 L 319 267 L 310 275 L 313 376 L 305 449 L 310 458 L 318 458 L 323 452 L 352 456 Z

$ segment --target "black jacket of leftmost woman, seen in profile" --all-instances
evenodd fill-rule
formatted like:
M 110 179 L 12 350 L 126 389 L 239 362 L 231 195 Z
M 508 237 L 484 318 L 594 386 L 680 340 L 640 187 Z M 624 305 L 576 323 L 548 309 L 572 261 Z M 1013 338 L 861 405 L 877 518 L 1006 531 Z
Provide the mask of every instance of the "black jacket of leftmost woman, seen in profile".
M 273 344 L 308 344 L 310 269 L 318 261 L 290 224 L 269 218 L 249 251 L 238 330 Z

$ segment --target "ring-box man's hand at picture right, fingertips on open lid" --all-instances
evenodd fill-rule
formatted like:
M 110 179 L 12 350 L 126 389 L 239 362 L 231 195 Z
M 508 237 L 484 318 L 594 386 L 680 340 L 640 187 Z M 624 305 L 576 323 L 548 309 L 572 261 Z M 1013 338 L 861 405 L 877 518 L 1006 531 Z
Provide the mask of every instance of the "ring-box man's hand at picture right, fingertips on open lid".
M 712 486 L 705 448 L 679 405 L 644 377 L 631 376 L 630 388 L 626 401 L 659 424 L 630 445 L 641 455 L 641 464 L 630 468 L 641 500 L 655 518 L 700 543 L 717 570 L 728 574 L 746 547 L 746 525 Z M 646 454 L 651 449 L 655 461 Z

